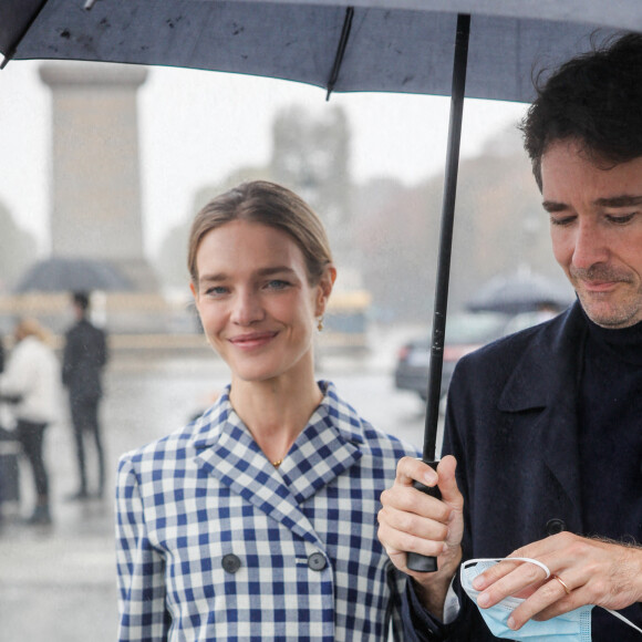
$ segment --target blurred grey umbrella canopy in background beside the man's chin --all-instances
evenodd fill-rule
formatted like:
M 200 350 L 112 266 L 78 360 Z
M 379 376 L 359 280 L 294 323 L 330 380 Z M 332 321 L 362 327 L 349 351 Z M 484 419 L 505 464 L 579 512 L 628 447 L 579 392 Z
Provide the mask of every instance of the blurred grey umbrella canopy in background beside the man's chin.
M 543 307 L 563 310 L 573 301 L 569 287 L 535 272 L 499 275 L 482 286 L 466 308 L 472 312 L 535 312 Z

